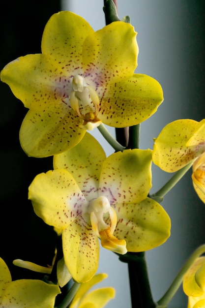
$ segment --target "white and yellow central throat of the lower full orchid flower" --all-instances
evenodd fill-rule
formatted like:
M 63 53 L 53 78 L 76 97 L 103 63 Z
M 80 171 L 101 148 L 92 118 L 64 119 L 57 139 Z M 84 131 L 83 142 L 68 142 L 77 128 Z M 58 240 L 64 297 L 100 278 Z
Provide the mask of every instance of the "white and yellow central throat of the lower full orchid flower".
M 127 252 L 125 240 L 118 240 L 114 235 L 117 225 L 117 215 L 107 197 L 100 196 L 89 204 L 92 229 L 101 240 L 101 245 L 114 252 Z M 106 221 L 105 221 L 105 214 Z

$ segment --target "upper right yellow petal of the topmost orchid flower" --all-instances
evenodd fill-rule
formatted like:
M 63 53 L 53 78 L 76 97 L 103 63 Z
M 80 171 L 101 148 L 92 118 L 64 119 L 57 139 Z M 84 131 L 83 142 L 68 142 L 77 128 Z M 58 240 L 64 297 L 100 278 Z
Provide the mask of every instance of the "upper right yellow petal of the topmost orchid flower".
M 132 77 L 138 46 L 133 26 L 112 24 L 89 35 L 83 45 L 84 76 L 94 89 Z

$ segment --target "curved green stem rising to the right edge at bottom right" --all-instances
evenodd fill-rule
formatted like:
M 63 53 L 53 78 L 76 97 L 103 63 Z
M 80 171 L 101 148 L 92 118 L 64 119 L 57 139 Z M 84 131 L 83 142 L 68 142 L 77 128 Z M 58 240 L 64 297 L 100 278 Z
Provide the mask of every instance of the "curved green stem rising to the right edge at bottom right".
M 166 307 L 171 299 L 174 297 L 176 294 L 176 291 L 178 290 L 180 284 L 183 281 L 183 276 L 187 272 L 187 270 L 190 268 L 190 266 L 193 264 L 193 262 L 200 257 L 201 254 L 205 252 L 205 244 L 202 246 L 199 246 L 193 253 L 192 255 L 188 258 L 176 278 L 174 279 L 173 283 L 167 290 L 167 292 L 164 294 L 164 296 L 158 301 L 158 305 Z

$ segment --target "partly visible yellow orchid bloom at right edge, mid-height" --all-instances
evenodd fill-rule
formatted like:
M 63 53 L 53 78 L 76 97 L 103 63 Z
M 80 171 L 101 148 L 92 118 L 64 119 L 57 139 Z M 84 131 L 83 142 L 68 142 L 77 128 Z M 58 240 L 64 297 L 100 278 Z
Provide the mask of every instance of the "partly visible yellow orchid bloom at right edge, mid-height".
M 205 203 L 205 120 L 182 119 L 167 124 L 154 140 L 152 159 L 166 172 L 175 172 L 193 161 L 193 185 Z

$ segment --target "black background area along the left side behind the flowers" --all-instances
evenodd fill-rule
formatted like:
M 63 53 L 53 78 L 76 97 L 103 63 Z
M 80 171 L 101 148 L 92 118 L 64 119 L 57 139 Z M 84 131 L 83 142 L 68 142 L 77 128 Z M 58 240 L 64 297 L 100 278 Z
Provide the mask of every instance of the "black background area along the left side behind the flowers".
M 43 29 L 60 10 L 59 0 L 0 0 L 0 70 L 20 56 L 41 52 Z M 52 158 L 28 157 L 19 143 L 27 109 L 0 82 L 0 257 L 13 279 L 41 277 L 12 265 L 23 259 L 52 263 L 56 234 L 38 218 L 28 200 L 28 186 L 41 172 L 52 169 Z

